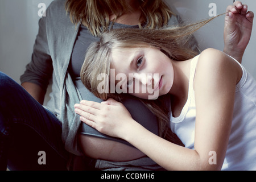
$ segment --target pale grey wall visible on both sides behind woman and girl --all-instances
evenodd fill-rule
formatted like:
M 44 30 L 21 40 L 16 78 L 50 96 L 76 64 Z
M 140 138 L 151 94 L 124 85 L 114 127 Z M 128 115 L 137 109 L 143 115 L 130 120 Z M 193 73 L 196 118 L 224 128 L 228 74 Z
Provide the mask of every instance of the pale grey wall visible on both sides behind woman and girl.
M 0 71 L 19 82 L 19 77 L 30 62 L 32 47 L 38 32 L 39 3 L 46 6 L 52 0 L 0 0 Z M 226 7 L 233 0 L 167 0 L 175 6 L 184 21 L 209 18 L 210 3 L 216 3 L 217 14 L 225 13 Z M 256 14 L 256 1 L 243 0 L 249 10 Z M 256 18 L 255 18 L 256 20 Z M 254 23 L 255 23 L 254 20 Z M 195 36 L 201 50 L 213 47 L 224 48 L 223 42 L 224 16 L 201 28 Z M 242 64 L 256 78 L 256 30 L 253 28 L 250 43 L 246 49 Z

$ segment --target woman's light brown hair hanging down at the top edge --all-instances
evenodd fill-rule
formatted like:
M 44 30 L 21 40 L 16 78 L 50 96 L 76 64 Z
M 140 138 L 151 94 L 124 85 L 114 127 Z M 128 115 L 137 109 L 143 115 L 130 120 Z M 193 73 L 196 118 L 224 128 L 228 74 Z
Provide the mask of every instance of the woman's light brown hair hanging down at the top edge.
M 138 0 L 137 3 L 142 12 L 138 22 L 140 28 L 145 22 L 143 28 L 166 26 L 174 15 L 162 0 Z M 83 24 L 93 36 L 100 36 L 108 30 L 110 21 L 115 22 L 123 13 L 133 10 L 126 0 L 67 0 L 65 9 L 71 22 Z M 116 18 L 110 19 L 111 14 L 115 14 Z

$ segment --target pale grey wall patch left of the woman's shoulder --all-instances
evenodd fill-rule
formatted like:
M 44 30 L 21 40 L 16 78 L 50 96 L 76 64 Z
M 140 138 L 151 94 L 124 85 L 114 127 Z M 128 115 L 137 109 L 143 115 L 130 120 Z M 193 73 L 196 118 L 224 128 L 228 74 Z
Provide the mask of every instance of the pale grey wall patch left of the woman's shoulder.
M 19 82 L 38 33 L 38 7 L 52 0 L 0 1 L 0 71 Z M 40 12 L 39 12 L 40 13 Z

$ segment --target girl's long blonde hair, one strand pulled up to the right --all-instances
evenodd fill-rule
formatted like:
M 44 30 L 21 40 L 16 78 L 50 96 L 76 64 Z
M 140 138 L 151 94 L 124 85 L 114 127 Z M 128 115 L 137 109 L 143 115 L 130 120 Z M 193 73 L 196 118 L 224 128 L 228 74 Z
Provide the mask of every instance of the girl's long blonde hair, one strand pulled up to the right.
M 198 55 L 198 53 L 187 46 L 189 36 L 214 18 L 216 17 L 193 24 L 154 30 L 125 28 L 105 32 L 100 36 L 99 42 L 92 43 L 88 48 L 84 64 L 81 68 L 81 81 L 90 92 L 102 100 L 114 98 L 115 100 L 122 101 L 122 98 L 130 97 L 129 94 L 98 92 L 98 85 L 102 82 L 102 80 L 98 80 L 98 75 L 104 73 L 110 76 L 110 63 L 112 61 L 113 49 L 155 47 L 159 48 L 173 60 L 184 61 L 192 59 Z M 110 80 L 107 81 L 110 82 Z M 111 84 L 106 85 L 109 85 L 110 90 Z M 167 96 L 161 96 L 158 100 L 154 101 L 139 100 L 158 117 L 160 137 L 182 146 L 183 143 L 170 130 L 170 108 L 166 107 L 166 97 Z

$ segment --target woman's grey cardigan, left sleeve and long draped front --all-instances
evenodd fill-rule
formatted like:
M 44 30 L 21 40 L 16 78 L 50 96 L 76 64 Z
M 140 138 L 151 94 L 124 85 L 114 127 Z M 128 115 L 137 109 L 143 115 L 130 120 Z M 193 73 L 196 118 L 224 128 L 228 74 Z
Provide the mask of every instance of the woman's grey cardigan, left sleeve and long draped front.
M 177 24 L 177 19 L 172 16 L 169 23 Z M 82 97 L 67 71 L 78 31 L 79 25 L 76 27 L 71 23 L 65 11 L 65 0 L 53 1 L 46 11 L 46 16 L 39 20 L 39 32 L 31 62 L 20 76 L 20 81 L 38 84 L 46 90 L 48 81 L 52 78 L 51 99 L 46 107 L 62 123 L 65 149 L 72 154 L 82 155 L 77 142 L 81 121 L 73 107 Z

